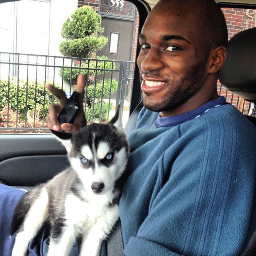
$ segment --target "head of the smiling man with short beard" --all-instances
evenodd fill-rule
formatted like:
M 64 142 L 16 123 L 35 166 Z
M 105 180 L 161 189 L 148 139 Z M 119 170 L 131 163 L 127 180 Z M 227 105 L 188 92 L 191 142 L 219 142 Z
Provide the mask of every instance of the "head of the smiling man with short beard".
M 168 116 L 217 98 L 227 41 L 226 22 L 214 2 L 156 5 L 139 35 L 144 105 Z

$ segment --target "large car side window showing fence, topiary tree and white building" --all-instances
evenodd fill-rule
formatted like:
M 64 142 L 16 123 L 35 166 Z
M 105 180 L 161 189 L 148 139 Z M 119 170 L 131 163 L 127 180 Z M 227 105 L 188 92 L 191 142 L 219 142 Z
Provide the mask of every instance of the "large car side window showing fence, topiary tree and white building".
M 60 11 L 61 10 L 61 11 Z M 129 117 L 139 14 L 124 0 L 0 4 L 0 133 L 48 132 L 47 82 L 70 97 L 86 77 L 88 122 Z

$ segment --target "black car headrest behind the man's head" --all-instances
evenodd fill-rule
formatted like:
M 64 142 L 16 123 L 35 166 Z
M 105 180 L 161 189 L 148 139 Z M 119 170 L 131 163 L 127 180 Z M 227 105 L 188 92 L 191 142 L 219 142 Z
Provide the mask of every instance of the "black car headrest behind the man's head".
M 227 51 L 220 82 L 243 99 L 256 102 L 256 28 L 234 35 Z

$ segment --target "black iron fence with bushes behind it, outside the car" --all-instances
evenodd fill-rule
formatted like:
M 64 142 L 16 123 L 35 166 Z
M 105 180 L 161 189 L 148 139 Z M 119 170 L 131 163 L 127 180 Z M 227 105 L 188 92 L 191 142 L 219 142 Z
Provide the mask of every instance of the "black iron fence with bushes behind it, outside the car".
M 106 122 L 121 104 L 126 110 L 135 63 L 0 52 L 0 131 L 47 130 L 48 107 L 58 101 L 46 91 L 51 83 L 69 97 L 76 77 L 85 75 L 84 109 L 89 122 Z

